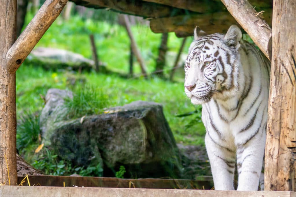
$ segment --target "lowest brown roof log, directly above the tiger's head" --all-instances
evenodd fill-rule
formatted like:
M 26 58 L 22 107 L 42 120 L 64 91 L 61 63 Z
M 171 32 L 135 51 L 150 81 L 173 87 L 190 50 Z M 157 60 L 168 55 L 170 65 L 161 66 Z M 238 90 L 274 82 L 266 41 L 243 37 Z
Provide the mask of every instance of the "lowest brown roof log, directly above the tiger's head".
M 272 10 L 268 9 L 263 13 L 267 22 L 271 23 Z M 198 25 L 208 34 L 226 33 L 228 28 L 237 21 L 229 12 L 216 12 L 213 14 L 182 15 L 176 17 L 164 17 L 151 19 L 150 28 L 152 32 L 176 32 L 178 37 L 192 36 L 194 28 Z

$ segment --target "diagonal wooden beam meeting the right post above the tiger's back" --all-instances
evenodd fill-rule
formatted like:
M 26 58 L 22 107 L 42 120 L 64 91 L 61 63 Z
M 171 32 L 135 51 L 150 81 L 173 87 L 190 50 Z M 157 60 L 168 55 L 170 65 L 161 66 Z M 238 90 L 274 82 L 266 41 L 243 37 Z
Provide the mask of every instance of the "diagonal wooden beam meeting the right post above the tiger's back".
M 221 0 L 239 25 L 249 34 L 264 55 L 271 60 L 271 28 L 248 0 Z

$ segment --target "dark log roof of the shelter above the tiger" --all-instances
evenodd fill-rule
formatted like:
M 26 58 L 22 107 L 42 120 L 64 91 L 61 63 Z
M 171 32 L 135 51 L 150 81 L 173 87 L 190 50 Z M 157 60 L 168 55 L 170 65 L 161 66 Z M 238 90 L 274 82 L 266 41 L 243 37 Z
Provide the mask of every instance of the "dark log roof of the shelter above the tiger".
M 225 33 L 237 21 L 220 0 L 71 0 L 77 5 L 141 16 L 155 33 L 191 36 L 196 25 L 207 33 Z M 250 0 L 271 26 L 272 0 Z M 260 12 L 264 11 L 264 12 Z

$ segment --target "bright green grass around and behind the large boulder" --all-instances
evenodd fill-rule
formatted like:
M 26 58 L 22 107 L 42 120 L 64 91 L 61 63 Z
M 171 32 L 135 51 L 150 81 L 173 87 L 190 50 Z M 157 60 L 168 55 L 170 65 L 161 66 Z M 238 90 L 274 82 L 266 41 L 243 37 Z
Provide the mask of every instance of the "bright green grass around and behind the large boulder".
M 27 16 L 27 23 L 32 18 Z M 155 59 L 160 44 L 160 34 L 151 32 L 148 26 L 132 27 L 140 52 L 147 65 L 148 72 L 154 71 Z M 129 38 L 126 30 L 116 24 L 83 20 L 78 16 L 65 22 L 58 18 L 36 47 L 61 48 L 91 58 L 89 34 L 94 34 L 101 61 L 107 63 L 107 69 L 128 73 Z M 191 39 L 187 39 L 184 52 L 187 52 Z M 169 34 L 169 51 L 177 52 L 181 39 Z M 173 62 L 169 60 L 168 62 Z M 166 69 L 172 65 L 166 65 Z M 134 71 L 140 74 L 139 64 L 134 64 Z M 168 73 L 167 73 L 168 74 Z M 182 74 L 179 74 L 182 76 Z M 72 84 L 69 78 L 84 78 L 85 82 Z M 100 175 L 98 166 L 88 168 L 72 167 L 67 162 L 56 159 L 50 150 L 44 148 L 35 154 L 40 144 L 38 135 L 38 115 L 44 107 L 42 97 L 49 88 L 68 89 L 73 91 L 74 98 L 67 102 L 68 118 L 100 113 L 103 108 L 125 105 L 136 100 L 158 102 L 163 105 L 165 118 L 174 134 L 177 143 L 204 144 L 205 128 L 200 120 L 201 107 L 194 106 L 184 93 L 183 77 L 179 82 L 169 82 L 157 77 L 149 79 L 122 78 L 117 74 L 102 74 L 69 71 L 46 71 L 38 65 L 24 63 L 17 71 L 16 104 L 17 104 L 17 147 L 22 156 L 38 169 L 52 175 Z M 191 113 L 191 115 L 186 115 Z M 48 164 L 48 165 L 47 165 Z

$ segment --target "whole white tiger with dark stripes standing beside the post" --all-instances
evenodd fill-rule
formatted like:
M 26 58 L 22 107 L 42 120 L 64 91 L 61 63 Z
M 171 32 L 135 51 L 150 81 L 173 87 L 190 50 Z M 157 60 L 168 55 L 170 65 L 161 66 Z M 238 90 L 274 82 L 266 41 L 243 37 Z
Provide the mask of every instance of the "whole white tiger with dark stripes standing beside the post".
M 198 27 L 185 62 L 185 93 L 202 104 L 216 190 L 257 190 L 267 124 L 270 62 L 232 25 L 226 35 Z

